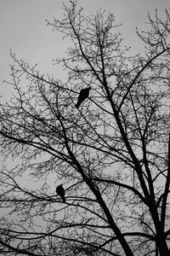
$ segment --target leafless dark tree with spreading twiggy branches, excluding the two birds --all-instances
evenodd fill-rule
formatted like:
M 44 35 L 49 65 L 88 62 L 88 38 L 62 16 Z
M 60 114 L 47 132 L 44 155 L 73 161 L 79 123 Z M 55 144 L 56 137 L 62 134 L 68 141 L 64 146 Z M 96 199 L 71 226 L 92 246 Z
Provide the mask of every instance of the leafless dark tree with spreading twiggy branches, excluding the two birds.
M 144 55 L 130 55 L 113 14 L 64 5 L 64 19 L 48 25 L 71 39 L 56 60 L 65 84 L 11 53 L 15 92 L 1 105 L 0 139 L 4 157 L 18 161 L 0 176 L 3 255 L 169 255 L 165 17 L 149 15 L 149 30 L 137 31 Z

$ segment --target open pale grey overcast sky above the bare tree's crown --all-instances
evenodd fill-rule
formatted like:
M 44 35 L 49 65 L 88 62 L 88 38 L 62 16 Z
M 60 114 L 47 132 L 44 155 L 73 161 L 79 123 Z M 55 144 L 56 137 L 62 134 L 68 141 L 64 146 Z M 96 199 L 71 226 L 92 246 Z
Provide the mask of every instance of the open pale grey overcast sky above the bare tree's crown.
M 0 94 L 4 92 L 3 79 L 8 79 L 10 49 L 20 59 L 30 64 L 38 63 L 42 73 L 54 73 L 58 77 L 59 72 L 51 60 L 67 45 L 59 33 L 46 26 L 45 19 L 61 17 L 62 2 L 69 3 L 68 0 L 0 0 Z M 147 12 L 154 15 L 158 9 L 163 15 L 170 7 L 169 0 L 79 0 L 79 4 L 88 15 L 93 15 L 99 8 L 113 11 L 117 23 L 123 24 L 122 37 L 133 47 L 138 45 L 134 43 L 135 28 L 144 28 Z

